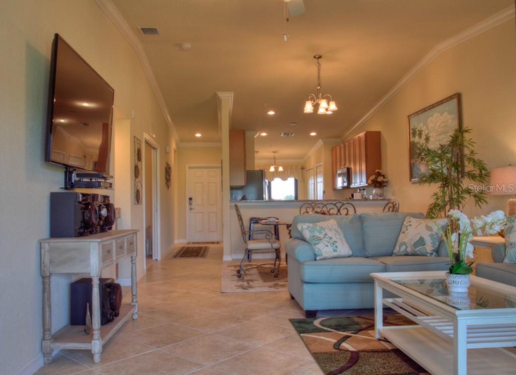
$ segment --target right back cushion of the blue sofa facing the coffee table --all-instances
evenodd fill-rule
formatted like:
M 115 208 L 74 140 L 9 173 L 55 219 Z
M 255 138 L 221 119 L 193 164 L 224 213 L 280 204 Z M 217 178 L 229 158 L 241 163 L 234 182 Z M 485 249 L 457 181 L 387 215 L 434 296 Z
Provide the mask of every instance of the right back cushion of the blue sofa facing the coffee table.
M 425 218 L 422 213 L 361 214 L 365 256 L 392 255 L 401 225 L 407 216 Z

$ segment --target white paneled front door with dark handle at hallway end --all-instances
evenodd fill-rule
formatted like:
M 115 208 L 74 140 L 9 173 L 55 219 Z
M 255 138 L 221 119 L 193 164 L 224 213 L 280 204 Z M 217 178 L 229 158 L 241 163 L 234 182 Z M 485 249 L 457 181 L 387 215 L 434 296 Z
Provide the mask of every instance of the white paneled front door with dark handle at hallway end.
M 220 167 L 190 167 L 187 183 L 189 242 L 222 240 Z

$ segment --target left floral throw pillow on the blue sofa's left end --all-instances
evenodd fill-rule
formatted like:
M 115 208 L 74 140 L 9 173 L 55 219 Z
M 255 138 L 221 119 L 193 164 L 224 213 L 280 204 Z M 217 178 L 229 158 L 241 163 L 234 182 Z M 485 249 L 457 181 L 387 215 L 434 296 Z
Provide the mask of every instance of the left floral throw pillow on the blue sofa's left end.
M 314 248 L 316 260 L 353 255 L 335 219 L 313 224 L 298 223 L 297 229 Z

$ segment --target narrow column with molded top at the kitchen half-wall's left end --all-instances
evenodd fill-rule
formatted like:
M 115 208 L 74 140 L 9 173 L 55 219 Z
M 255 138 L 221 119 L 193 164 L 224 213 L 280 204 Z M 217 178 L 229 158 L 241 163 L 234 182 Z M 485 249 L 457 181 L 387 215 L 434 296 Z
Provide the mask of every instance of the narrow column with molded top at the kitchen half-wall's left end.
M 219 133 L 222 137 L 222 224 L 224 260 L 231 260 L 231 211 L 229 186 L 229 129 L 233 107 L 232 92 L 217 92 Z

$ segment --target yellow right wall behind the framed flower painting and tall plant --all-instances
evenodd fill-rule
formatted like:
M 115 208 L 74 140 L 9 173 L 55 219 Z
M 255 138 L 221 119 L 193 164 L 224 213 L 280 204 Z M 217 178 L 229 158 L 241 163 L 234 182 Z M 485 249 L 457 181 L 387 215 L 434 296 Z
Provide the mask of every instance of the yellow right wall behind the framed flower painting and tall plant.
M 390 178 L 386 196 L 398 200 L 401 210 L 426 212 L 436 190 L 409 182 L 407 116 L 455 92 L 462 95 L 462 123 L 473 131 L 478 156 L 489 168 L 516 164 L 514 19 L 442 53 L 362 126 L 344 136 L 381 131 L 382 168 Z M 464 211 L 477 215 L 506 209 L 507 198 L 491 196 L 481 209 L 469 202 Z

